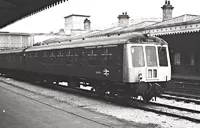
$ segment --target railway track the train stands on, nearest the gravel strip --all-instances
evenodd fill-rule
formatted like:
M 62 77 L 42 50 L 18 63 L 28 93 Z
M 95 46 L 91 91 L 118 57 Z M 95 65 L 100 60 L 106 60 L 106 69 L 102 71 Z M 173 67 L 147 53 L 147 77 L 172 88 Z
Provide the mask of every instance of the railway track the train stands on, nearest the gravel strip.
M 40 86 L 40 84 L 37 85 L 37 86 Z M 99 98 L 95 92 L 92 92 L 90 90 L 69 88 L 67 86 L 60 86 L 60 85 L 59 86 L 55 86 L 55 85 L 53 86 L 53 84 L 48 85 L 48 86 L 42 85 L 42 87 L 51 88 L 51 89 L 59 90 L 59 91 L 63 91 L 63 92 L 76 93 L 76 94 L 81 95 L 81 96 L 88 96 L 90 98 L 102 100 L 102 98 Z M 116 97 L 109 97 L 109 95 L 105 95 L 103 100 L 109 101 L 109 102 L 114 103 L 114 104 L 121 104 L 121 103 L 116 102 L 116 101 L 118 101 L 118 100 L 116 100 Z M 200 111 L 198 111 L 198 110 L 186 109 L 186 108 L 182 108 L 182 107 L 176 107 L 176 106 L 154 103 L 154 102 L 150 102 L 148 104 L 145 104 L 141 101 L 133 100 L 133 99 L 127 100 L 127 103 L 128 104 L 126 104 L 126 105 L 128 105 L 129 107 L 132 107 L 132 108 L 137 108 L 137 109 L 144 110 L 144 111 L 154 112 L 154 113 L 157 113 L 157 114 L 167 115 L 167 116 L 170 116 L 170 117 L 177 117 L 179 119 L 185 119 L 185 120 L 188 120 L 188 121 L 191 121 L 191 122 L 200 123 L 200 116 L 199 116 Z

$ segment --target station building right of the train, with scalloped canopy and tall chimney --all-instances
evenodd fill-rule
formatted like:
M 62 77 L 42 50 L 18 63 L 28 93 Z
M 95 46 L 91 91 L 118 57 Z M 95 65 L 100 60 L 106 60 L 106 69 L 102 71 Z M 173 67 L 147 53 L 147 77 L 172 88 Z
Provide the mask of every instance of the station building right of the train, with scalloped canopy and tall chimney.
M 184 14 L 172 17 L 174 7 L 165 1 L 161 7 L 163 21 L 134 29 L 150 33 L 169 44 L 172 77 L 174 79 L 200 79 L 200 16 Z

